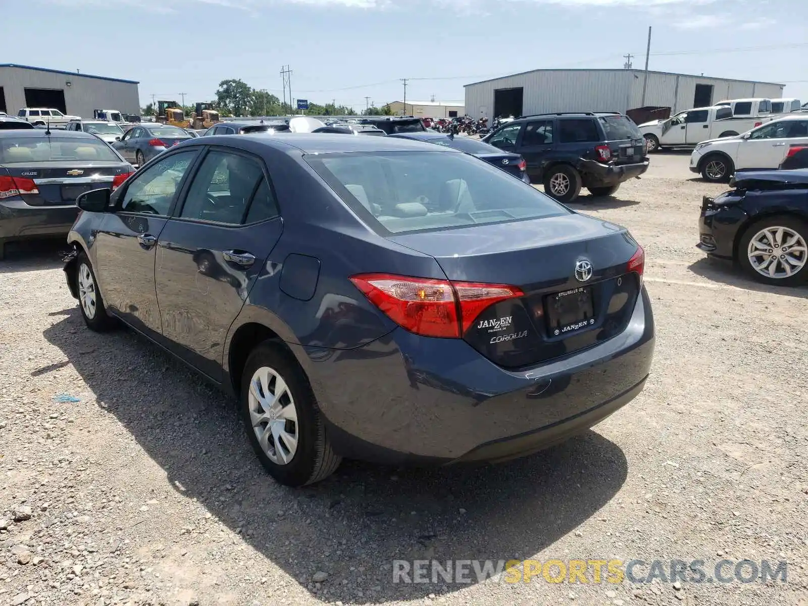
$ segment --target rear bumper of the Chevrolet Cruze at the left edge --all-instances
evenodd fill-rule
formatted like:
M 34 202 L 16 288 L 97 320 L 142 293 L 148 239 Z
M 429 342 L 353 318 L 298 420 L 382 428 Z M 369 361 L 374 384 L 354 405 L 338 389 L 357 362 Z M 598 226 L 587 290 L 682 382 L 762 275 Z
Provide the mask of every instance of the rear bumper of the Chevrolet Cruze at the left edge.
M 66 236 L 78 207 L 28 206 L 18 196 L 0 201 L 0 240 Z

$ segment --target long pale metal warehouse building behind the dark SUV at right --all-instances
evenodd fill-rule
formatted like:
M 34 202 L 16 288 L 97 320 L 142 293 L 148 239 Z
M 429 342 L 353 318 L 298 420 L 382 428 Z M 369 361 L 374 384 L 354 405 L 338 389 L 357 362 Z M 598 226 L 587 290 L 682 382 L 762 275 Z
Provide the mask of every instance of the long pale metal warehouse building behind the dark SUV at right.
M 535 69 L 524 74 L 465 85 L 469 116 L 525 116 L 543 112 L 627 112 L 637 107 L 671 107 L 680 112 L 722 99 L 783 96 L 785 85 L 642 69 Z

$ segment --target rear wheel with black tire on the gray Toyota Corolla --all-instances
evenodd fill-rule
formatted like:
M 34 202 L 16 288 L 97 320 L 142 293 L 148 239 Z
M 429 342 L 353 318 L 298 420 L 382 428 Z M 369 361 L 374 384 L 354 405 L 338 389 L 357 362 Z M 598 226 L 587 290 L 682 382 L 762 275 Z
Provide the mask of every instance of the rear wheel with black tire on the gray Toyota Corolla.
M 280 484 L 313 484 L 339 467 L 342 457 L 331 449 L 311 385 L 280 344 L 265 341 L 250 353 L 239 408 L 256 456 Z

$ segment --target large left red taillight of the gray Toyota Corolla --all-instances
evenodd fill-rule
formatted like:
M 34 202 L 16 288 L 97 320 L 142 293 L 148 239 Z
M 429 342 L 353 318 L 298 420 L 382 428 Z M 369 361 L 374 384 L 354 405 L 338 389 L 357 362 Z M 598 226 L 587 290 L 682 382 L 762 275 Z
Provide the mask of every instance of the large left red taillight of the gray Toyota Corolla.
M 520 288 L 429 280 L 392 274 L 360 274 L 351 282 L 398 326 L 427 337 L 458 339 L 490 305 L 521 297 Z

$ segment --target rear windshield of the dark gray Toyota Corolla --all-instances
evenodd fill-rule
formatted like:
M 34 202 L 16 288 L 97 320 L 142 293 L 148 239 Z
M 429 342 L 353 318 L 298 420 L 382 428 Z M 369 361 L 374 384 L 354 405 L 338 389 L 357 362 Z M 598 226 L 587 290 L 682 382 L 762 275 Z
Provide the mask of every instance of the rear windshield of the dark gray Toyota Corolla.
M 466 154 L 359 152 L 305 159 L 382 235 L 570 213 L 519 179 Z

